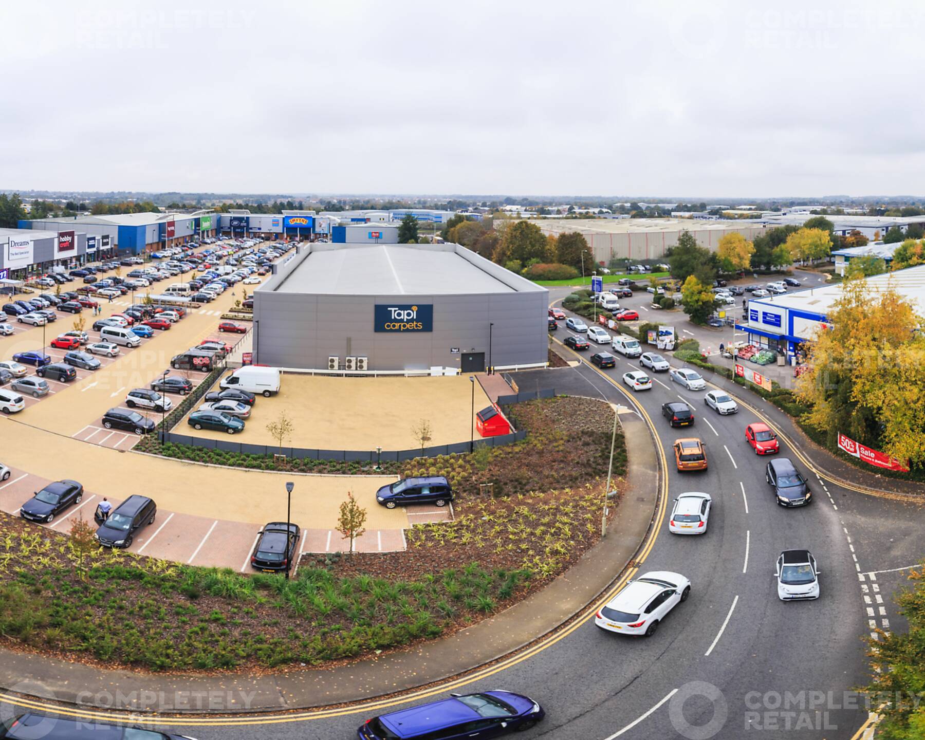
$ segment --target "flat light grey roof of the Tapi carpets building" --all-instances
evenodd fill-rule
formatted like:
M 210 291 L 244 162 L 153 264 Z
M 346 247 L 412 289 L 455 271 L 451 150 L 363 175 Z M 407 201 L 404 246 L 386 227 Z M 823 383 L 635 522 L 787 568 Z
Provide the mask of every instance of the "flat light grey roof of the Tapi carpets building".
M 518 281 L 524 280 L 511 273 L 508 275 Z M 539 288 L 535 284 L 530 285 Z M 524 289 L 529 290 L 527 286 Z M 312 252 L 302 264 L 297 265 L 275 290 L 334 295 L 517 292 L 489 275 L 487 270 L 457 254 L 453 244 L 428 244 L 425 247 L 406 244 L 313 245 Z

